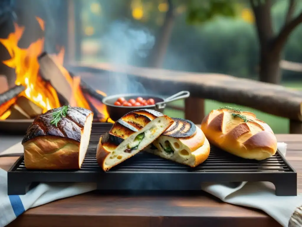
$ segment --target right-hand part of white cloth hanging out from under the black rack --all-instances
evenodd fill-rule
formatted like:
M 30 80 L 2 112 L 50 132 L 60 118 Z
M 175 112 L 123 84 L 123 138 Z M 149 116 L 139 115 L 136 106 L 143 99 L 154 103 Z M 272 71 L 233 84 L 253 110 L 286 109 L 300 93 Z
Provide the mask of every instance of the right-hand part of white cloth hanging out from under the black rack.
M 278 143 L 278 149 L 285 156 L 286 143 Z M 282 226 L 288 226 L 294 210 L 302 205 L 302 195 L 276 196 L 275 189 L 264 182 L 203 183 L 202 190 L 218 197 L 223 202 L 263 210 Z

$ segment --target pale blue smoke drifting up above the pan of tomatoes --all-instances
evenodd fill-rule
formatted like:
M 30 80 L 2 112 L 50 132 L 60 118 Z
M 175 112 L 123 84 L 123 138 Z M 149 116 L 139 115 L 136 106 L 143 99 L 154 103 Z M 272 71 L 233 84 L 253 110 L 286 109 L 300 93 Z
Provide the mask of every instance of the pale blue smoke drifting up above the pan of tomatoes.
M 113 21 L 101 38 L 102 51 L 111 64 L 133 65 L 146 58 L 153 48 L 155 37 L 149 30 L 130 21 Z M 109 92 L 146 93 L 146 88 L 129 75 L 113 74 L 109 78 Z

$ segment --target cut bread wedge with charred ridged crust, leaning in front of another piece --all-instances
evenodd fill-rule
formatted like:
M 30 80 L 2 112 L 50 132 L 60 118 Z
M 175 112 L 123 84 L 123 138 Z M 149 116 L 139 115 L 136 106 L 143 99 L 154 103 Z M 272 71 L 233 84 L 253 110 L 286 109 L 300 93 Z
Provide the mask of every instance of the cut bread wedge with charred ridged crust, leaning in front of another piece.
M 117 120 L 98 143 L 97 161 L 104 171 L 123 162 L 152 143 L 173 123 L 155 110 L 135 110 Z

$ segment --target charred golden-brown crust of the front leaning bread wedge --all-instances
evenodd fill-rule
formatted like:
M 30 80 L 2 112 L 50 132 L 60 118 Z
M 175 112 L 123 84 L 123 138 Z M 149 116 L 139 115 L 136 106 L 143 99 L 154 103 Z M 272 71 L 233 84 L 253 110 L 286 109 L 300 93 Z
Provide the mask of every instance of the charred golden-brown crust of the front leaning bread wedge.
M 165 119 L 169 120 L 169 126 L 173 123 L 173 120 L 170 117 L 158 111 L 149 109 L 131 111 L 125 114 L 119 120 L 117 120 L 111 127 L 109 133 L 105 133 L 99 140 L 96 154 L 96 159 L 99 166 L 101 166 L 104 171 L 108 171 L 113 166 L 116 166 L 117 164 L 124 161 L 120 159 L 120 161 L 117 161 L 116 163 L 114 163 L 114 165 L 110 167 L 105 165 L 106 159 L 109 158 L 109 156 L 112 156 L 112 152 L 114 152 L 114 150 L 117 148 L 118 145 L 120 145 L 120 143 L 122 143 L 133 133 L 136 133 L 141 130 L 149 122 L 156 119 L 157 117 L 164 117 Z M 156 138 L 154 138 L 153 140 L 155 139 Z M 135 154 L 136 153 L 129 154 L 128 158 Z

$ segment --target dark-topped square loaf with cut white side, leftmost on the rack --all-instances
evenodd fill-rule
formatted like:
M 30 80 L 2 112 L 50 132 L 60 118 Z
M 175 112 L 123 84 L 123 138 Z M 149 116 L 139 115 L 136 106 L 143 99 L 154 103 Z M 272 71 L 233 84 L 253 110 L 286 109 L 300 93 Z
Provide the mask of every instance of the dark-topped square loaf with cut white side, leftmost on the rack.
M 67 107 L 64 115 L 62 108 L 66 107 L 37 116 L 27 129 L 22 140 L 27 169 L 81 168 L 89 144 L 93 113 L 80 107 Z M 57 125 L 53 122 L 54 116 L 58 117 Z

